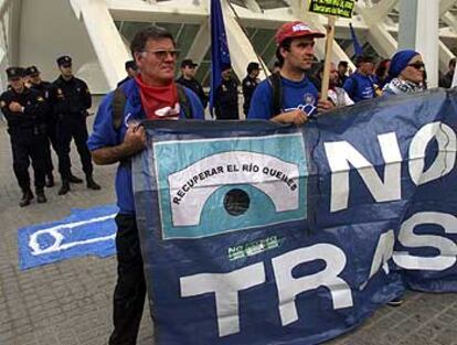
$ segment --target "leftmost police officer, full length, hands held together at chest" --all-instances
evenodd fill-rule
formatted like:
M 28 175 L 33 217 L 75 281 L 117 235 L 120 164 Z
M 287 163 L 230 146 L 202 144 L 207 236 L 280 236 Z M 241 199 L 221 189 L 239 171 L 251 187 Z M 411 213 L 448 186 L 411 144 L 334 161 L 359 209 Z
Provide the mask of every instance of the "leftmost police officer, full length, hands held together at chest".
M 21 207 L 33 200 L 30 188 L 29 164 L 32 160 L 36 202 L 45 203 L 44 195 L 44 155 L 46 103 L 34 90 L 25 87 L 24 69 L 7 69 L 9 89 L 0 96 L 0 107 L 8 121 L 11 139 L 13 171 L 22 190 Z

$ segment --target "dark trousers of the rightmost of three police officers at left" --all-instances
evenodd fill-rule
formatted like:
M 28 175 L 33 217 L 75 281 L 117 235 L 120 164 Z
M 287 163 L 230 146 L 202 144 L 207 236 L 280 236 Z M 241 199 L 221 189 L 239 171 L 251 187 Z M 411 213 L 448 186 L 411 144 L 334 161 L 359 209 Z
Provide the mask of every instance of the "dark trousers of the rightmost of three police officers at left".
M 87 148 L 86 119 L 63 119 L 57 122 L 59 172 L 62 175 L 62 180 L 68 180 L 71 175 L 70 145 L 72 138 L 75 140 L 84 173 L 92 175 L 94 170 L 91 152 Z

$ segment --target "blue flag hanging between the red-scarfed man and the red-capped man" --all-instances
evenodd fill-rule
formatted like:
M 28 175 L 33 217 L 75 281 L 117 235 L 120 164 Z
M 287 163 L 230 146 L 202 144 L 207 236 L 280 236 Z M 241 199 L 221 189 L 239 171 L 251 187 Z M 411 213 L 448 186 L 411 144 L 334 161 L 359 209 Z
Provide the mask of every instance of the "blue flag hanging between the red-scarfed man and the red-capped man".
M 224 18 L 221 0 L 211 0 L 211 91 L 210 112 L 213 115 L 215 90 L 222 83 L 223 66 L 231 65 L 227 36 L 225 34 Z

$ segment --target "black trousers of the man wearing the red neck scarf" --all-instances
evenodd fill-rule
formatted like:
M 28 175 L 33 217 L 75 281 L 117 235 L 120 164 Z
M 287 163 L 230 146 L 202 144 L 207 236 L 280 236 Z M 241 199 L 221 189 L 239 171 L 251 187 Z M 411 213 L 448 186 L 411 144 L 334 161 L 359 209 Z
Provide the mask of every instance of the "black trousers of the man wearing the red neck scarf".
M 135 345 L 146 298 L 146 281 L 135 215 L 116 216 L 117 283 L 109 345 Z

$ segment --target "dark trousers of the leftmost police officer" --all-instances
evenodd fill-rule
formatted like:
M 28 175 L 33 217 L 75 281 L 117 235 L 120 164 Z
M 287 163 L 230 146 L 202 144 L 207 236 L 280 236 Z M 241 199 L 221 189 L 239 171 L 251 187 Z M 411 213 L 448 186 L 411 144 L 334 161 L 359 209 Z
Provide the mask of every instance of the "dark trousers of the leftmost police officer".
M 29 165 L 32 160 L 35 188 L 44 187 L 44 154 L 46 137 L 33 134 L 33 131 L 20 131 L 11 134 L 13 171 L 22 191 L 30 190 Z

